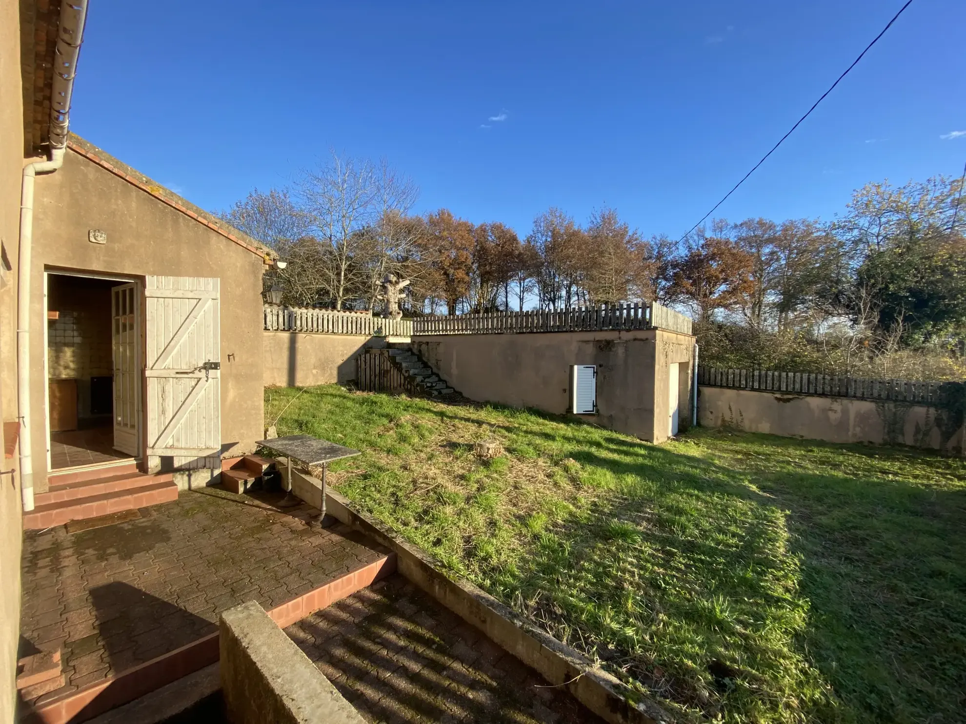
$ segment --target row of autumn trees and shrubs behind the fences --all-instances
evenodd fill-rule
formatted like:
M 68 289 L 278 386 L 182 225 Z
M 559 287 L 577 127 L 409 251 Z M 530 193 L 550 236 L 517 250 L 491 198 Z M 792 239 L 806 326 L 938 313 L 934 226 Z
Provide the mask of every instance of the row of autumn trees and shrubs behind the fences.
M 266 283 L 294 306 L 379 309 L 388 273 L 412 280 L 409 315 L 653 300 L 690 312 L 709 363 L 947 378 L 966 374 L 962 185 L 869 183 L 832 220 L 716 219 L 681 241 L 644 237 L 609 207 L 582 223 L 551 208 L 521 236 L 414 214 L 411 179 L 333 153 L 221 215 L 288 262 Z M 895 369 L 875 369 L 883 360 Z

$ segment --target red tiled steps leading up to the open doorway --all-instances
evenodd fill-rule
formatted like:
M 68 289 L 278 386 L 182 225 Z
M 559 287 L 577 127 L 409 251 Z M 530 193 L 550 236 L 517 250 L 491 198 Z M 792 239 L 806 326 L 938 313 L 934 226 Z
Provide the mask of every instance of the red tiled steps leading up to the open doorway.
M 121 513 L 178 499 L 172 473 L 148 475 L 135 463 L 47 477 L 47 491 L 23 514 L 25 530 L 39 530 L 99 515 Z

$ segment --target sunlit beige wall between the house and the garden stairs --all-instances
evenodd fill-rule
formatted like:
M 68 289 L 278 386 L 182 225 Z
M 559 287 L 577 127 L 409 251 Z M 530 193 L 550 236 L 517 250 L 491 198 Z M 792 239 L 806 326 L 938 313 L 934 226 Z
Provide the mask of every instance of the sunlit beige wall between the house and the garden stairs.
M 383 337 L 317 332 L 263 332 L 265 385 L 308 387 L 355 379 L 363 349 L 384 348 Z

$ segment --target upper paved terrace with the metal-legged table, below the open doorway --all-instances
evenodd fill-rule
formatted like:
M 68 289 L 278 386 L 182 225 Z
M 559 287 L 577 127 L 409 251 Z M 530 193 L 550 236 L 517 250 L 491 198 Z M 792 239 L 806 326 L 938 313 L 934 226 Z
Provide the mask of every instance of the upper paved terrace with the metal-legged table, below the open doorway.
M 21 655 L 62 649 L 66 678 L 32 704 L 211 634 L 218 614 L 242 601 L 270 610 L 386 554 L 341 524 L 307 527 L 316 511 L 283 512 L 270 505 L 276 497 L 209 487 L 127 522 L 27 532 Z

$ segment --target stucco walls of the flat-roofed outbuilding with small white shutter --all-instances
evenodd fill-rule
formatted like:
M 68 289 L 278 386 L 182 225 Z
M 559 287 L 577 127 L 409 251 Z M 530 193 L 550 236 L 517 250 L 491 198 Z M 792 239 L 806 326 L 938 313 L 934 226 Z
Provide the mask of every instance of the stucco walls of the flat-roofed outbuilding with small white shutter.
M 661 442 L 668 437 L 668 367 L 690 369 L 694 338 L 658 329 L 428 335 L 413 337 L 412 348 L 470 400 L 557 414 L 569 411 L 570 366 L 596 365 L 599 413 L 581 417 Z M 681 379 L 681 408 L 688 410 L 685 369 Z M 689 419 L 682 414 L 682 430 Z

